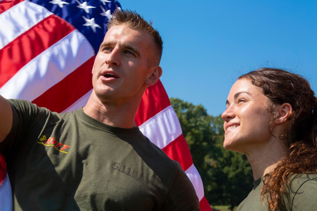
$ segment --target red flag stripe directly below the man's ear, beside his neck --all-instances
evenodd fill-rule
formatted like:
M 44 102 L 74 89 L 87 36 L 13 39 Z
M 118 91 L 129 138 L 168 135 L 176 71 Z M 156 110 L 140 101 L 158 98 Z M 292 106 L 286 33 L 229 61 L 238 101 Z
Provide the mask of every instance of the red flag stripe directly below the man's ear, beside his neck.
M 171 105 L 170 99 L 164 89 L 162 82 L 159 80 L 155 85 L 149 86 L 139 105 L 135 116 L 135 123 L 140 126 L 146 120 Z

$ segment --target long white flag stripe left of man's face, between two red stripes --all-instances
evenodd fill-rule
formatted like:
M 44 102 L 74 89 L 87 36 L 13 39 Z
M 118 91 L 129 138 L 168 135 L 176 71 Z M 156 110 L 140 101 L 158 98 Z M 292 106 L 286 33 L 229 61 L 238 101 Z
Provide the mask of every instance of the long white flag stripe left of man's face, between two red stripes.
M 0 94 L 32 101 L 93 56 L 86 37 L 74 30 L 22 67 L 0 88 Z

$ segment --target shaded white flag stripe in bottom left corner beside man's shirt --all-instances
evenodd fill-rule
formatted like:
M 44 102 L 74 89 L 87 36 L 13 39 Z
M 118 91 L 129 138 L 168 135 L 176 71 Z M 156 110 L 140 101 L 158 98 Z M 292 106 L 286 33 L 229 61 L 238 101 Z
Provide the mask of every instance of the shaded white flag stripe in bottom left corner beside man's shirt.
M 12 192 L 9 176 L 7 175 L 0 184 L 0 210 L 11 211 L 12 207 Z

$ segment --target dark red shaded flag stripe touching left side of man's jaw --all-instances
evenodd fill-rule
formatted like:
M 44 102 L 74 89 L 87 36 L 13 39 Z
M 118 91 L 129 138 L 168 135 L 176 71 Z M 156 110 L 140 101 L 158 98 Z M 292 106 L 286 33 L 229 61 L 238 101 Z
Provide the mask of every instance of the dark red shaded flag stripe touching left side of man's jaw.
M 93 88 L 91 69 L 94 56 L 78 67 L 63 80 L 49 88 L 32 101 L 40 107 L 54 112 L 62 112 Z

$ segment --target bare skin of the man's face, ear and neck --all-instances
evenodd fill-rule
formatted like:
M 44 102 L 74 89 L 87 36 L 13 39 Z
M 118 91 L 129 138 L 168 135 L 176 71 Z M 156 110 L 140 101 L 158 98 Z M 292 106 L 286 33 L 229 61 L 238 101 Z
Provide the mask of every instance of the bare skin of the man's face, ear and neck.
M 84 112 L 109 125 L 134 127 L 144 91 L 162 74 L 161 67 L 151 62 L 153 49 L 153 38 L 147 32 L 124 24 L 111 27 L 94 61 L 94 90 Z

